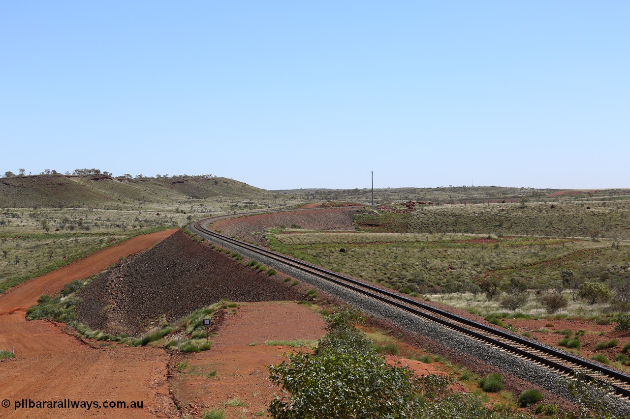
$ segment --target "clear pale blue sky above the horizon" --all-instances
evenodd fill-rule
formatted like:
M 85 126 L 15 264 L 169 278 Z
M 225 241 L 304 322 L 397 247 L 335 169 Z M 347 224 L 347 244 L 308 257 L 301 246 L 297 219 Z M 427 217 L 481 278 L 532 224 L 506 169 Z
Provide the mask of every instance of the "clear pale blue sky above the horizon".
M 630 2 L 0 0 L 0 174 L 630 187 Z

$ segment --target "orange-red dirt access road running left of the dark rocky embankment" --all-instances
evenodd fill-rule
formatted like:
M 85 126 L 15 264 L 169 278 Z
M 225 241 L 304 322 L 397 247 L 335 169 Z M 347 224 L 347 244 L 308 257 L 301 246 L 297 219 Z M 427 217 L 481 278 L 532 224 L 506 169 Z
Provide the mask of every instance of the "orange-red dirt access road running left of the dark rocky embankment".
M 68 282 L 103 271 L 121 256 L 152 247 L 175 231 L 130 238 L 24 282 L 0 296 L 0 349 L 15 347 L 16 354 L 0 362 L 0 417 L 179 417 L 169 395 L 166 381 L 169 355 L 164 350 L 94 349 L 61 333 L 60 327 L 53 323 L 25 320 L 26 308 L 37 303 L 41 294 L 59 293 Z M 31 408 L 29 399 L 33 403 L 56 402 L 61 406 Z M 68 401 L 84 402 L 84 406 L 67 407 Z M 142 408 L 105 407 L 105 401 L 124 401 L 127 406 L 142 401 Z M 27 406 L 15 409 L 16 403 Z

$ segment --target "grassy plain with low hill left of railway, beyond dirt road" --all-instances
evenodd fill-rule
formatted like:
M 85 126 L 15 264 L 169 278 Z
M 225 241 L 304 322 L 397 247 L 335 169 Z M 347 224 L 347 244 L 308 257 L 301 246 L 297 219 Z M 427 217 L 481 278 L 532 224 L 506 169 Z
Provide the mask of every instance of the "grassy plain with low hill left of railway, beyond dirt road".
M 0 292 L 135 235 L 299 203 L 221 177 L 16 176 L 0 182 Z

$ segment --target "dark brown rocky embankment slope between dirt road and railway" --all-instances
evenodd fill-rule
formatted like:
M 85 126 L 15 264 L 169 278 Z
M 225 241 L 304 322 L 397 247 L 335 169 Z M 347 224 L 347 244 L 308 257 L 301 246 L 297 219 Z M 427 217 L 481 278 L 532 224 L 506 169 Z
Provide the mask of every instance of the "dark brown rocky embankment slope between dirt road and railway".
M 83 291 L 79 320 L 111 333 L 138 335 L 151 322 L 169 323 L 221 299 L 277 301 L 304 296 L 279 275 L 238 264 L 207 242 L 196 242 L 183 232 L 151 250 L 130 256 L 105 272 Z

